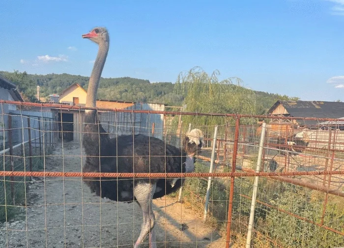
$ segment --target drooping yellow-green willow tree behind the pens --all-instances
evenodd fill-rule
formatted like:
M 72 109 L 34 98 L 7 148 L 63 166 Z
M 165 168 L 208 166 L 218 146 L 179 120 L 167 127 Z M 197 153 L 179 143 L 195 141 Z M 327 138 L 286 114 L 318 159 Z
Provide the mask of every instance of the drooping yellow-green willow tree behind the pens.
M 200 67 L 187 73 L 180 73 L 174 86 L 174 92 L 182 94 L 183 111 L 202 113 L 256 114 L 256 95 L 253 90 L 242 87 L 242 80 L 236 77 L 219 81 L 219 71 L 211 75 Z M 233 118 L 183 116 L 183 123 L 201 125 L 232 124 Z M 245 121 L 245 120 L 243 120 Z

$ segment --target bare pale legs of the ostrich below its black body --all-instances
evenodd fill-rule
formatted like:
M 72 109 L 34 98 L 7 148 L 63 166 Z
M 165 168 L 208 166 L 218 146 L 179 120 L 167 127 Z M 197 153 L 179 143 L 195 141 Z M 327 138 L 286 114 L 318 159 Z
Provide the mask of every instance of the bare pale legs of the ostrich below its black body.
M 139 183 L 134 188 L 135 197 L 142 208 L 143 224 L 141 233 L 135 243 L 134 248 L 139 248 L 145 236 L 149 233 L 149 247 L 156 248 L 154 222 L 155 216 L 152 210 L 153 194 L 156 190 L 156 184 Z

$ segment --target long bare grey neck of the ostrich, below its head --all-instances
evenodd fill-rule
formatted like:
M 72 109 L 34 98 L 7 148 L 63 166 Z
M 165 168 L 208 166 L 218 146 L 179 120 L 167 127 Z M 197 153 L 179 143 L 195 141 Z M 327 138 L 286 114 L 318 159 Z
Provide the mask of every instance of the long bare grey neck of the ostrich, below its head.
M 86 107 L 95 108 L 96 107 L 96 97 L 99 85 L 100 76 L 104 68 L 106 57 L 109 51 L 109 42 L 104 42 L 99 44 L 98 55 L 94 61 L 91 76 L 89 77 L 87 97 L 86 97 Z

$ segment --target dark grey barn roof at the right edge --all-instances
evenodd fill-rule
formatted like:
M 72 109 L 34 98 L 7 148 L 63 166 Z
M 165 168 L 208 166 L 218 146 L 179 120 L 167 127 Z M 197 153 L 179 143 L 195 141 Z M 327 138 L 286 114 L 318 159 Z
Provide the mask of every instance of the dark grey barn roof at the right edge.
M 324 101 L 277 101 L 267 114 L 272 114 L 280 104 L 287 110 L 287 116 L 336 119 L 344 116 L 344 103 Z M 297 120 L 297 122 L 300 125 L 316 125 L 322 121 Z

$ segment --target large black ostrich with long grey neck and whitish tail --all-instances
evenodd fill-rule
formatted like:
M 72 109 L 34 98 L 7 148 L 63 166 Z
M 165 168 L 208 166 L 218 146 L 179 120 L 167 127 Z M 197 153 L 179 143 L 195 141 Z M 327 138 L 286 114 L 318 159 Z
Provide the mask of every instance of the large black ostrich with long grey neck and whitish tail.
M 100 76 L 109 50 L 106 28 L 94 28 L 82 36 L 99 45 L 97 58 L 89 78 L 86 107 L 96 107 Z M 180 173 L 193 172 L 193 156 L 203 146 L 201 130 L 192 130 L 179 149 L 161 139 L 144 135 L 121 135 L 109 138 L 99 123 L 96 110 L 85 111 L 83 146 L 86 163 L 83 172 L 135 172 Z M 136 201 L 142 208 L 143 225 L 134 248 L 139 248 L 149 233 L 149 246 L 156 248 L 152 199 L 177 191 L 182 186 L 180 178 L 84 178 L 93 193 L 115 201 Z

